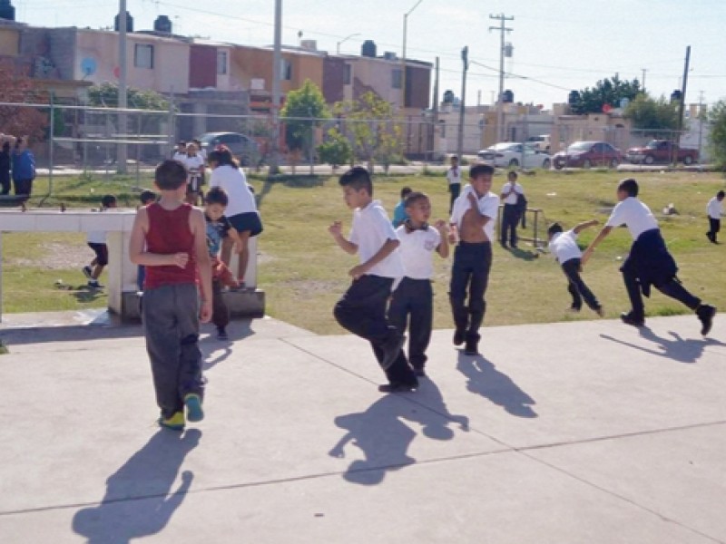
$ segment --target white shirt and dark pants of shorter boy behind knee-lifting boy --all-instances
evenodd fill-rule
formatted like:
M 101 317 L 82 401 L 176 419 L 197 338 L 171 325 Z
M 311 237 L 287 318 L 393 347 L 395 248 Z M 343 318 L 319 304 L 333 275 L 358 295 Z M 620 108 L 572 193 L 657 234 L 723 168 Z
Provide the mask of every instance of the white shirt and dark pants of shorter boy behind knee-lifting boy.
M 396 229 L 396 236 L 405 276 L 393 292 L 388 320 L 401 333 L 408 322 L 408 361 L 415 370 L 423 370 L 434 323 L 433 253 L 441 244 L 441 234 L 428 225 L 411 228 L 405 223 Z

